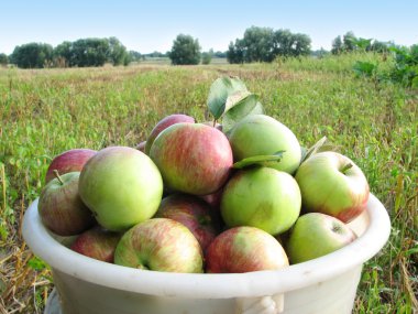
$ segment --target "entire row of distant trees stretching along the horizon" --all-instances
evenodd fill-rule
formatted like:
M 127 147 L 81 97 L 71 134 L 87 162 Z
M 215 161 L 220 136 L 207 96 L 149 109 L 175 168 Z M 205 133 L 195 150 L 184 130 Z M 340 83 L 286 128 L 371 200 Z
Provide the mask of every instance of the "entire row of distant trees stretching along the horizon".
M 172 50 L 166 53 L 153 52 L 141 54 L 127 51 L 117 39 L 79 39 L 65 41 L 53 47 L 46 43 L 28 43 L 19 45 L 11 55 L 0 53 L 0 65 L 14 64 L 22 68 L 40 67 L 86 67 L 128 65 L 146 58 L 169 57 L 173 65 L 209 64 L 213 57 L 228 58 L 229 63 L 273 62 L 276 57 L 314 55 L 322 57 L 329 53 L 340 54 L 353 51 L 388 52 L 394 43 L 356 37 L 346 32 L 332 41 L 331 52 L 323 48 L 311 51 L 311 40 L 301 33 L 289 30 L 251 26 L 242 39 L 230 42 L 228 51 L 209 50 L 201 52 L 199 41 L 190 35 L 179 34 L 173 42 Z

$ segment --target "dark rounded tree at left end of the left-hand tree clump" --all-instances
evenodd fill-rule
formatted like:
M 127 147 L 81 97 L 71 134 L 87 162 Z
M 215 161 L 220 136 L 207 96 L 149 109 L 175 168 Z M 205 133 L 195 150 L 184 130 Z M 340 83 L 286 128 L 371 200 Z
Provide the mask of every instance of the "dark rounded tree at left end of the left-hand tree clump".
M 52 45 L 29 43 L 14 48 L 11 62 L 22 68 L 41 68 L 52 65 L 53 55 Z

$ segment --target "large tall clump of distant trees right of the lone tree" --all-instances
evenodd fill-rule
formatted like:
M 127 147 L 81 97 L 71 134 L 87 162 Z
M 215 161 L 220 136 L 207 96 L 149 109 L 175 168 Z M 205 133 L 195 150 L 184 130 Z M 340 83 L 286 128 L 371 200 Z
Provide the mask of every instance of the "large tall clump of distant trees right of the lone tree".
M 230 43 L 227 57 L 230 63 L 272 62 L 277 56 L 308 55 L 310 43 L 306 34 L 252 26 L 245 30 L 243 39 Z

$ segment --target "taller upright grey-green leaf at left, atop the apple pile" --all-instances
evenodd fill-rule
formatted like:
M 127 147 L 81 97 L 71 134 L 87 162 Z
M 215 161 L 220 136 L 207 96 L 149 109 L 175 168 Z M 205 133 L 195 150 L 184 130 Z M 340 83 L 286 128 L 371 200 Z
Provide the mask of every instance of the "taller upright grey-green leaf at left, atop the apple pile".
M 245 84 L 239 78 L 224 76 L 212 83 L 207 105 L 216 120 L 224 113 L 227 99 L 235 91 L 248 91 Z

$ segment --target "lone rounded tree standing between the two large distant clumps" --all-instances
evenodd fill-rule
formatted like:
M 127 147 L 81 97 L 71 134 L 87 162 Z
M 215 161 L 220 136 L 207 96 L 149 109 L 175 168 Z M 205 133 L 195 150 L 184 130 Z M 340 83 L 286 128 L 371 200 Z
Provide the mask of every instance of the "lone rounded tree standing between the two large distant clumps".
M 199 64 L 201 57 L 199 41 L 190 35 L 179 34 L 174 40 L 168 56 L 173 65 Z

